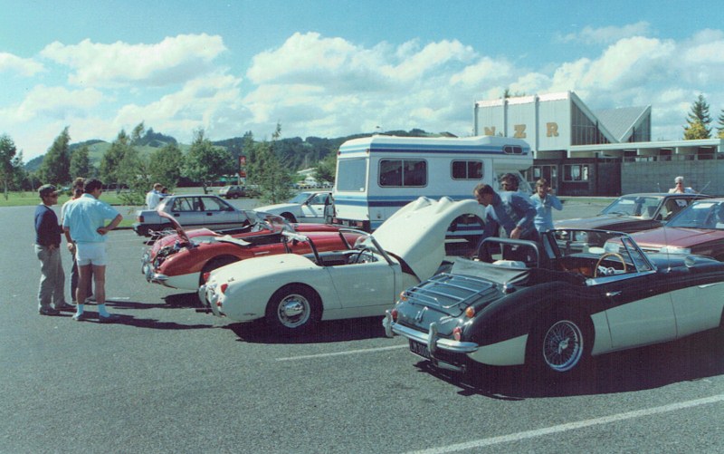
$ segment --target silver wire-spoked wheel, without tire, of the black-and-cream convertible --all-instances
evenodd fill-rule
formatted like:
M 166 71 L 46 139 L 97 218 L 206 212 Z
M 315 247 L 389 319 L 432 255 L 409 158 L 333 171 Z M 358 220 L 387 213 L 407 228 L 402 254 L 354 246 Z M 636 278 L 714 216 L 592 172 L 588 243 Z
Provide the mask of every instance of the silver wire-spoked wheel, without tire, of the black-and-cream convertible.
M 583 333 L 576 324 L 561 320 L 543 337 L 543 359 L 556 372 L 570 371 L 583 355 Z

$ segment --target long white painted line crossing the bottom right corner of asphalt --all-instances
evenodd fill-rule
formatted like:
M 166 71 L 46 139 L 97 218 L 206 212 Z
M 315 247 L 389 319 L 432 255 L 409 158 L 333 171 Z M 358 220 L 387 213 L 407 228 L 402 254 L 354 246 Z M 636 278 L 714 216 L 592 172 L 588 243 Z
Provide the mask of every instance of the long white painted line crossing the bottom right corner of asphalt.
M 465 443 L 457 443 L 450 446 L 443 446 L 439 448 L 430 448 L 417 451 L 409 451 L 408 454 L 439 454 L 443 452 L 460 451 L 464 449 L 476 449 L 484 446 L 492 446 L 500 443 L 508 443 L 510 441 L 519 441 L 532 439 L 535 437 L 543 437 L 552 433 L 564 432 L 567 430 L 576 430 L 585 427 L 596 426 L 599 424 L 609 424 L 611 422 L 617 422 L 621 420 L 631 420 L 633 418 L 642 418 L 643 416 L 651 416 L 659 413 L 666 413 L 668 411 L 677 411 L 688 409 L 691 407 L 698 407 L 700 405 L 708 405 L 710 403 L 717 403 L 724 401 L 724 394 L 716 396 L 705 397 L 703 399 L 697 399 L 694 401 L 683 401 L 678 403 L 672 403 L 669 405 L 663 405 L 662 407 L 653 407 L 651 409 L 643 409 L 636 411 L 627 411 L 625 413 L 618 413 L 611 416 L 604 416 L 601 418 L 594 418 L 593 420 L 580 420 L 577 422 L 569 422 L 567 424 L 560 424 L 558 426 L 551 426 L 544 429 L 537 430 L 526 430 L 524 432 L 511 433 L 510 435 L 501 435 L 500 437 L 491 437 L 490 439 L 472 440 Z

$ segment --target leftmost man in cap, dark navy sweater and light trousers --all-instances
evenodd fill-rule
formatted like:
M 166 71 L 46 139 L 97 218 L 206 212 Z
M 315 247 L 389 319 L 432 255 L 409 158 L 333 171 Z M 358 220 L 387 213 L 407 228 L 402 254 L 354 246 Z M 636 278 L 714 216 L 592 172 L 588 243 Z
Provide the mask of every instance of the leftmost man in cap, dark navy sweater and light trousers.
M 57 315 L 61 310 L 73 308 L 65 302 L 65 273 L 60 249 L 62 228 L 51 208 L 58 203 L 58 192 L 52 185 L 43 185 L 38 188 L 38 195 L 43 200 L 35 208 L 35 255 L 40 260 L 41 273 L 38 313 Z

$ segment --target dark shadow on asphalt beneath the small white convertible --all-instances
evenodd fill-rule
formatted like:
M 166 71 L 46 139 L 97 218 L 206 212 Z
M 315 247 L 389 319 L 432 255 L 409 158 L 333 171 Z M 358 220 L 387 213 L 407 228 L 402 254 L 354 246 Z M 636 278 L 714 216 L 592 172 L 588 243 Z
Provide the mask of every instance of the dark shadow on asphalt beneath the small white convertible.
M 306 333 L 279 333 L 263 321 L 227 324 L 224 328 L 246 343 L 335 343 L 385 337 L 380 317 L 319 322 Z

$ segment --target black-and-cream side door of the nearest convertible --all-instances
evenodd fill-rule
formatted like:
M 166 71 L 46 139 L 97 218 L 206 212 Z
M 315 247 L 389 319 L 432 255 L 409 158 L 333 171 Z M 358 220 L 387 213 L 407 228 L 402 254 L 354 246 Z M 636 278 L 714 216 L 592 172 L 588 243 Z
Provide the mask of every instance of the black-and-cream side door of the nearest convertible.
M 676 338 L 669 289 L 656 272 L 624 275 L 598 286 L 614 350 Z

